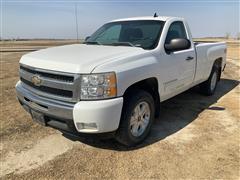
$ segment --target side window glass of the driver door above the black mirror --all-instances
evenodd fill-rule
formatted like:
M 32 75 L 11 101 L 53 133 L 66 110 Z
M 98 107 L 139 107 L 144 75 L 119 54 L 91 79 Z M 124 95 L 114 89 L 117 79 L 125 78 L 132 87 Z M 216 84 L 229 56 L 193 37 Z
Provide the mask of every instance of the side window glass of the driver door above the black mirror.
M 187 34 L 185 31 L 185 27 L 183 25 L 183 22 L 176 21 L 173 22 L 168 30 L 167 37 L 165 40 L 165 44 L 169 44 L 172 39 L 176 38 L 187 38 Z

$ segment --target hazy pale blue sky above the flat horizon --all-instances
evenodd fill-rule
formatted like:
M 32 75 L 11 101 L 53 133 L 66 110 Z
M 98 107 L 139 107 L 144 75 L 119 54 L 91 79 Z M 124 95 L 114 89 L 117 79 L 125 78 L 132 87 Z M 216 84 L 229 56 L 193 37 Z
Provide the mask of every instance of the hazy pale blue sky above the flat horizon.
M 1 0 L 1 37 L 75 39 L 75 4 L 80 38 L 112 19 L 154 12 L 186 18 L 194 37 L 225 36 L 227 32 L 236 37 L 239 32 L 239 0 Z

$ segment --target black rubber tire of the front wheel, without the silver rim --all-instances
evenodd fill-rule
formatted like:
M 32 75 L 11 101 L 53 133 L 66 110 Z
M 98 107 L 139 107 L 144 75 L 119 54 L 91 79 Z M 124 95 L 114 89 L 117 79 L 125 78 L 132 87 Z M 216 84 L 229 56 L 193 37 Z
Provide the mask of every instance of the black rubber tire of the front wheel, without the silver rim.
M 130 126 L 130 120 L 134 109 L 141 103 L 147 103 L 148 110 L 150 109 L 150 118 L 145 130 L 138 137 L 132 134 L 132 126 Z M 145 104 L 146 105 L 146 104 Z M 125 146 L 134 146 L 141 143 L 149 134 L 155 114 L 154 100 L 151 94 L 143 90 L 135 90 L 129 92 L 124 97 L 123 110 L 121 115 L 121 121 L 119 128 L 116 132 L 116 140 Z M 138 116 L 139 117 L 139 116 Z M 139 120 L 140 121 L 140 120 Z M 137 128 L 139 130 L 139 127 Z

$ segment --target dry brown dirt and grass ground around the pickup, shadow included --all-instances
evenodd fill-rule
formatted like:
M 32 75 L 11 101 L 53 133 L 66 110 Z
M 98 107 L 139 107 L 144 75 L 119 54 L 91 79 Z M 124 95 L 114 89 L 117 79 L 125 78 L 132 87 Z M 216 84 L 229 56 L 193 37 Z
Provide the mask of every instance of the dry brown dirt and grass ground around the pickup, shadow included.
M 1 179 L 240 178 L 239 41 L 228 42 L 228 64 L 216 94 L 205 97 L 194 89 L 162 103 L 150 136 L 131 149 L 42 127 L 17 102 L 20 57 L 68 43 L 0 44 Z

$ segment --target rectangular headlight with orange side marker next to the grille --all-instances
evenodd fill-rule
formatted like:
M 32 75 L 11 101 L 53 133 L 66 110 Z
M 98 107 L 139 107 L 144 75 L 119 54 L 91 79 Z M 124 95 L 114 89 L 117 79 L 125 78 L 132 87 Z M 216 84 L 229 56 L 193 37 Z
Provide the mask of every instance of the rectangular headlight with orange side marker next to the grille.
M 81 99 L 107 99 L 116 97 L 117 81 L 116 74 L 102 73 L 82 75 Z

